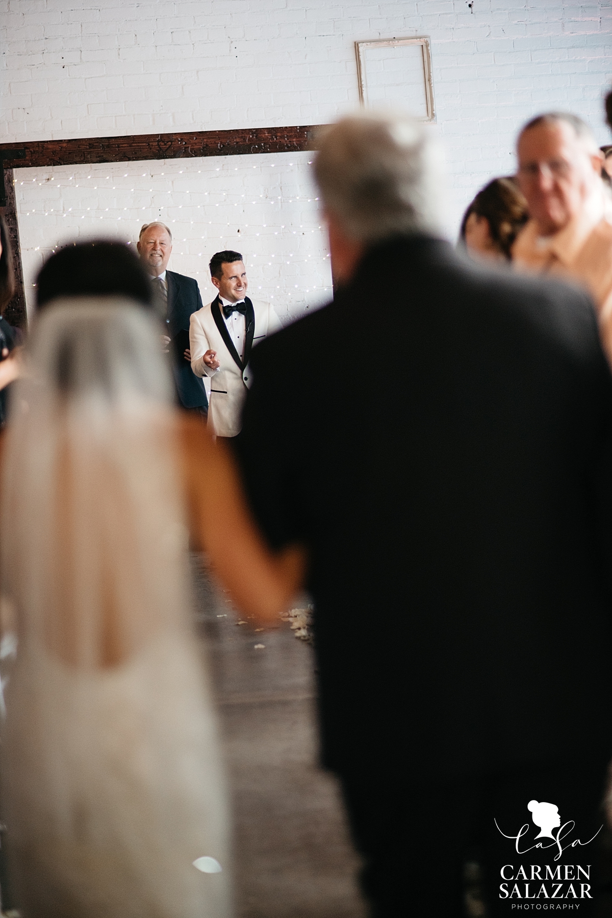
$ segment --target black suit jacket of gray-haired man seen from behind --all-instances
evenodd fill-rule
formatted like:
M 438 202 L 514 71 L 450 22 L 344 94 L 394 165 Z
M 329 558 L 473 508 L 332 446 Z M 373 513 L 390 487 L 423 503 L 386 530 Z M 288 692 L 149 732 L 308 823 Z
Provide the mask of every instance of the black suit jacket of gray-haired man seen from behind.
M 587 295 L 395 239 L 251 368 L 237 450 L 270 543 L 310 553 L 325 764 L 609 758 L 612 380 Z

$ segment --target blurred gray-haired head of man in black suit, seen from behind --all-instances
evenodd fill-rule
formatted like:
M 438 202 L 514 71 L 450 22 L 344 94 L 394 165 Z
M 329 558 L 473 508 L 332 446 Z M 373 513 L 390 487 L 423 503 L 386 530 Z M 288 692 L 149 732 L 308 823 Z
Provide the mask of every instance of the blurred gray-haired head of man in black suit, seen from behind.
M 440 150 L 415 118 L 342 118 L 320 141 L 315 175 L 325 208 L 352 239 L 372 243 L 396 233 L 440 232 Z

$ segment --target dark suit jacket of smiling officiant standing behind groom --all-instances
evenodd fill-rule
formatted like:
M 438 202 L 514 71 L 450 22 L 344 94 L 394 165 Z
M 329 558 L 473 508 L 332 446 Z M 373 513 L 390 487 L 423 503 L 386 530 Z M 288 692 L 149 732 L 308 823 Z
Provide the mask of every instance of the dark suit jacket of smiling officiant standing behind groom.
M 166 328 L 173 338 L 179 331 L 189 332 L 192 312 L 202 308 L 202 297 L 193 277 L 166 271 L 168 284 L 168 319 Z M 187 345 L 188 346 L 188 345 Z M 196 376 L 183 354 L 171 353 L 174 383 L 184 408 L 207 408 L 208 399 L 203 381 Z

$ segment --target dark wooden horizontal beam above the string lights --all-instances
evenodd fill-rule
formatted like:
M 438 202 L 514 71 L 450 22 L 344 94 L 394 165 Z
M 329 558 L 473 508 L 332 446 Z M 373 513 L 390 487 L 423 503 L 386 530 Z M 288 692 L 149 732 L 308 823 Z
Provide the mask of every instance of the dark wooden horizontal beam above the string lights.
M 239 156 L 312 149 L 319 125 L 288 128 L 197 130 L 179 134 L 133 134 L 127 137 L 84 137 L 74 140 L 26 140 L 0 143 L 4 150 L 20 147 L 23 159 L 10 160 L 14 169 L 94 162 L 176 160 L 195 156 Z

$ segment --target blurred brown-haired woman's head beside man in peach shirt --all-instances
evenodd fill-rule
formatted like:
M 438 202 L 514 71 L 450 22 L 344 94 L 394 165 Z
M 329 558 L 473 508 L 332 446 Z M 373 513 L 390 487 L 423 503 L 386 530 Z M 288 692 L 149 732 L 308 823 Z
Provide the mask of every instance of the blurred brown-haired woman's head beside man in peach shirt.
M 463 214 L 460 244 L 470 254 L 493 261 L 510 261 L 512 243 L 527 223 L 527 201 L 515 180 L 495 178 L 474 197 Z

